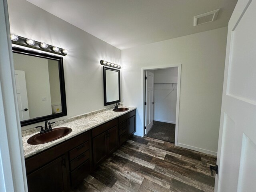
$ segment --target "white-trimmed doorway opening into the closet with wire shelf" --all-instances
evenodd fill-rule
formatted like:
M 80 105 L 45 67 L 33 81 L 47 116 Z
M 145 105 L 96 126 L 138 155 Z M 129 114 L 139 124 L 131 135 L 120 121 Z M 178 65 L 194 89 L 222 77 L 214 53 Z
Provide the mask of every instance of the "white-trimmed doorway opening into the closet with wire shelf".
M 180 66 L 144 70 L 144 135 L 177 144 Z

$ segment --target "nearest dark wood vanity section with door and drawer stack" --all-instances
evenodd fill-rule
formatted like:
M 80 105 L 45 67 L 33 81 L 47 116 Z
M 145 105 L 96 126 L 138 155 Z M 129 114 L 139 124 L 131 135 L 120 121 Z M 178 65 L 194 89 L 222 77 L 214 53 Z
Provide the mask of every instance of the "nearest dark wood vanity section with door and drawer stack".
M 63 192 L 90 172 L 91 131 L 25 159 L 29 192 Z

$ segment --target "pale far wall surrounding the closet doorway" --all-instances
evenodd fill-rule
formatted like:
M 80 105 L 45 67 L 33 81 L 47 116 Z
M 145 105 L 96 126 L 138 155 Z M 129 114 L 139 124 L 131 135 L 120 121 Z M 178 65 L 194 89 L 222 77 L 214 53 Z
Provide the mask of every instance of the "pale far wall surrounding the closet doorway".
M 122 98 L 137 107 L 137 135 L 144 119 L 141 68 L 181 63 L 178 145 L 216 154 L 226 38 L 224 27 L 122 50 Z

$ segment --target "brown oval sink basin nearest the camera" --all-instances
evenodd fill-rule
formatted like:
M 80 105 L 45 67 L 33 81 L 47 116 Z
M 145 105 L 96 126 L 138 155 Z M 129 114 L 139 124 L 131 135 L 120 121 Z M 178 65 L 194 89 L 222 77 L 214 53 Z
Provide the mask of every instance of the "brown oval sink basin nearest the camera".
M 48 143 L 56 139 L 62 138 L 67 134 L 70 134 L 71 131 L 72 129 L 68 127 L 60 127 L 60 128 L 52 129 L 51 131 L 43 134 L 38 133 L 28 139 L 28 144 L 38 145 L 38 144 Z

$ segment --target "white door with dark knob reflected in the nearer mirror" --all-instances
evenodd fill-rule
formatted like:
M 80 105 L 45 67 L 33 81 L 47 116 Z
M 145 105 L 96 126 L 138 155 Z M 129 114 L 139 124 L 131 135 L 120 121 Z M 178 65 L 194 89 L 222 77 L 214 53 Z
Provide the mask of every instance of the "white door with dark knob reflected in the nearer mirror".
M 15 82 L 16 91 L 18 98 L 18 108 L 20 120 L 28 120 L 29 118 L 29 108 L 28 108 L 28 96 L 26 87 L 25 72 L 20 70 L 15 70 Z

